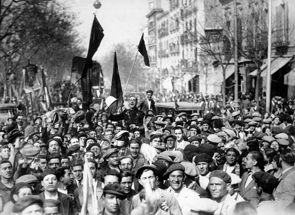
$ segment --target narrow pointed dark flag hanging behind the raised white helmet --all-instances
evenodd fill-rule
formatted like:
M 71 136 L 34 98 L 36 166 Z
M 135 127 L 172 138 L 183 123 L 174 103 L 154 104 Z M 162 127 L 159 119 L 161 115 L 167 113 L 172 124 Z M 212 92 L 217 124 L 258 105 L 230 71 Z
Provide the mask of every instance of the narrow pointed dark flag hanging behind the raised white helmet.
M 116 113 L 119 107 L 123 105 L 123 92 L 121 86 L 121 80 L 118 70 L 118 63 L 117 63 L 117 55 L 116 52 L 114 53 L 114 67 L 113 67 L 113 78 L 112 78 L 112 86 L 111 86 L 111 93 L 110 96 L 115 97 L 118 99 L 116 101 L 116 105 L 112 105 L 111 113 Z

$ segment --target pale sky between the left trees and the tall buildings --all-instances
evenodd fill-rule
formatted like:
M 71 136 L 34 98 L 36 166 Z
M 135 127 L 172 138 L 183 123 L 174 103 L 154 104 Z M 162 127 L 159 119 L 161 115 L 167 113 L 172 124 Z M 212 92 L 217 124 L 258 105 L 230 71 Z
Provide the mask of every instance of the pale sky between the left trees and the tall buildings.
M 100 9 L 94 8 L 95 0 L 59 1 L 76 13 L 77 21 L 81 23 L 76 30 L 86 49 L 89 45 L 93 13 L 96 13 L 96 18 L 104 29 L 104 38 L 92 58 L 98 62 L 110 50 L 115 51 L 117 47 L 114 43 L 131 43 L 128 45 L 137 46 L 147 26 L 148 0 L 100 0 Z M 86 57 L 86 53 L 83 57 Z

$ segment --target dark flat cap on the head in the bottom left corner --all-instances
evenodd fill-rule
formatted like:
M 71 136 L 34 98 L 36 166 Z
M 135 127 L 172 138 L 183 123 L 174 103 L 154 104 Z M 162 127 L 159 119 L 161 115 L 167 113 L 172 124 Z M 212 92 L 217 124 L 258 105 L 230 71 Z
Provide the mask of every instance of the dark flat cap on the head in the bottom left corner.
M 13 213 L 21 213 L 24 209 L 31 205 L 39 205 L 41 208 L 43 207 L 43 201 L 39 196 L 29 195 L 24 196 L 23 198 L 19 199 L 13 206 L 12 212 Z

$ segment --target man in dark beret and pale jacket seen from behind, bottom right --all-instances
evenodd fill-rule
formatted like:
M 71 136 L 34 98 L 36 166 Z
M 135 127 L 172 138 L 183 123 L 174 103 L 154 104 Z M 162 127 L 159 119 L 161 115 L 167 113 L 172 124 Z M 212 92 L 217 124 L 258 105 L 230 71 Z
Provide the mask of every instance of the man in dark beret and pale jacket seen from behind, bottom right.
M 256 192 L 259 196 L 259 203 L 256 206 L 258 215 L 280 214 L 284 205 L 272 195 L 278 185 L 278 179 L 268 172 L 255 172 L 252 178 L 256 183 Z

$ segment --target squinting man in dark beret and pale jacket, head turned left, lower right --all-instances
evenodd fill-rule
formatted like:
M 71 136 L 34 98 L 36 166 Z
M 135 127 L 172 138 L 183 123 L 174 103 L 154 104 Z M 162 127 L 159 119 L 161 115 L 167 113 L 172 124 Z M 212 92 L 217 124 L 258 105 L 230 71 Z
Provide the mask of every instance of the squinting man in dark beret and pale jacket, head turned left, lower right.
M 222 170 L 214 170 L 210 173 L 208 187 L 211 192 L 211 198 L 218 203 L 218 209 L 214 212 L 214 215 L 227 215 L 236 205 L 237 201 L 233 201 L 229 194 L 231 182 L 230 175 Z

